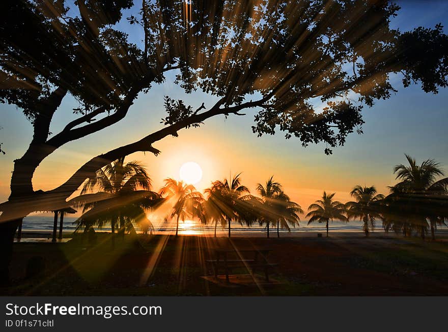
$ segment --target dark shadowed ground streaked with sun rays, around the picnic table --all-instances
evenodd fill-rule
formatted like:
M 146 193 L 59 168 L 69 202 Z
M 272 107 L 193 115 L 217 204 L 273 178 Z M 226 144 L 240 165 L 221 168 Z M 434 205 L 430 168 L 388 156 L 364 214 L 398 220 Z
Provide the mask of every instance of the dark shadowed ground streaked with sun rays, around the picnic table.
M 275 286 L 221 287 L 212 274 L 210 248 L 269 247 L 278 263 Z M 43 257 L 39 276 L 25 278 L 32 257 Z M 235 270 L 245 273 L 244 269 Z M 448 242 L 417 238 L 117 237 L 83 234 L 68 243 L 14 245 L 12 284 L 2 295 L 448 295 Z

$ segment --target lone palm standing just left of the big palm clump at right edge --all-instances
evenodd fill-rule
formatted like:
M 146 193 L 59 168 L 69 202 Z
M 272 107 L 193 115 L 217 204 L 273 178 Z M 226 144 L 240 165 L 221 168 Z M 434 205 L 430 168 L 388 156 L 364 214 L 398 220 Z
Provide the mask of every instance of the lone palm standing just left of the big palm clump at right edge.
M 381 218 L 378 202 L 384 199 L 384 195 L 377 194 L 376 188 L 355 186 L 350 195 L 356 199 L 355 202 L 347 202 L 348 219 L 359 218 L 363 222 L 363 230 L 366 236 L 369 236 L 369 227 L 375 228 L 375 220 Z

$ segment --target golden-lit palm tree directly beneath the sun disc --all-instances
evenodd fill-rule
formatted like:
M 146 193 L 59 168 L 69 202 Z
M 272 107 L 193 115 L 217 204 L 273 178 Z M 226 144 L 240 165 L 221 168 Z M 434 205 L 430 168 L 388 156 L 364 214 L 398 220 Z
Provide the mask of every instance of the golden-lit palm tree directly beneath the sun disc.
M 166 178 L 165 185 L 159 193 L 165 195 L 167 201 L 173 201 L 172 212 L 169 217 L 176 217 L 176 236 L 179 232 L 179 219 L 185 221 L 187 217 L 203 219 L 202 194 L 194 188 L 193 185 L 177 181 L 173 178 Z

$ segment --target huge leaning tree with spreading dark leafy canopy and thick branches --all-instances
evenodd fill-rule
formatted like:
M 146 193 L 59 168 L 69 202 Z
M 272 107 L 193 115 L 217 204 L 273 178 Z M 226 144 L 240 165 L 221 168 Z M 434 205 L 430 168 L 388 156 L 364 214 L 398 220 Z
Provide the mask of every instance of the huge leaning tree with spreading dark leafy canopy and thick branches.
M 363 106 L 396 92 L 389 74 L 402 75 L 405 86 L 419 82 L 425 92 L 447 85 L 442 27 L 391 29 L 399 7 L 386 0 L 77 0 L 70 10 L 63 0 L 10 0 L 0 6 L 0 98 L 18 106 L 34 128 L 14 163 L 9 200 L 0 205 L 2 269 L 24 216 L 64 206 L 101 167 L 137 151 L 157 155 L 154 142 L 209 117 L 256 108 L 257 135 L 279 130 L 303 146 L 326 142 L 330 154 L 349 133 L 362 132 Z M 127 20 L 144 36 L 138 45 L 118 30 L 124 23 L 115 24 L 132 6 L 140 9 Z M 167 99 L 164 128 L 86 161 L 57 188 L 33 187 L 34 171 L 49 154 L 119 122 L 138 93 L 170 70 L 187 93 L 200 89 L 218 101 L 198 107 Z M 50 136 L 66 95 L 79 101 L 78 117 Z M 325 106 L 316 108 L 316 101 Z M 7 271 L 0 274 L 6 280 Z

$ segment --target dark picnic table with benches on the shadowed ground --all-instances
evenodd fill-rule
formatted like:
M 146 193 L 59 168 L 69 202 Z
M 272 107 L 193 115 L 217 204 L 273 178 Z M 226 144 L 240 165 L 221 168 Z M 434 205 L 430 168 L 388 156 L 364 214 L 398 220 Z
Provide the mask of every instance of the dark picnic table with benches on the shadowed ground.
M 212 249 L 214 259 L 207 262 L 213 266 L 215 278 L 218 277 L 218 271 L 223 269 L 226 273 L 226 281 L 229 282 L 229 271 L 233 268 L 245 267 L 251 275 L 255 274 L 257 269 L 263 270 L 266 282 L 269 282 L 269 273 L 276 263 L 267 261 L 267 256 L 272 249 L 235 249 L 235 248 L 215 248 Z

